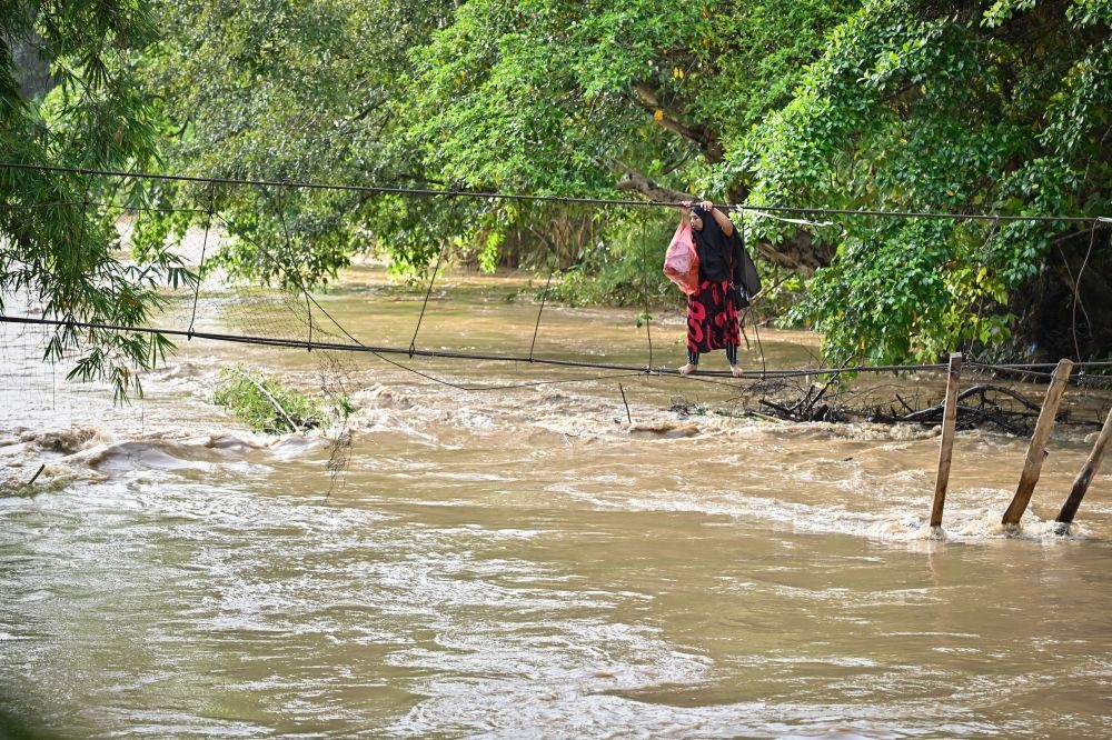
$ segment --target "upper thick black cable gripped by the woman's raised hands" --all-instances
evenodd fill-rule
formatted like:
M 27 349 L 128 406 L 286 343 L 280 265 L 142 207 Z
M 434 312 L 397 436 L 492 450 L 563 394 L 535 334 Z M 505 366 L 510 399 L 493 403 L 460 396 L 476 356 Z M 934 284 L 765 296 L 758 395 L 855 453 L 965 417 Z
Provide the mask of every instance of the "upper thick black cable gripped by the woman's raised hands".
M 622 200 L 606 198 L 586 198 L 569 196 L 535 196 L 525 193 L 500 193 L 477 190 L 443 190 L 433 188 L 401 188 L 389 186 L 354 186 L 326 182 L 302 182 L 296 180 L 250 180 L 237 178 L 212 178 L 190 174 L 159 174 L 155 172 L 123 172 L 119 170 L 101 170 L 78 167 L 60 167 L 56 164 L 29 164 L 20 162 L 0 162 L 0 169 L 13 170 L 36 170 L 41 172 L 66 172 L 71 174 L 102 176 L 117 178 L 135 178 L 149 180 L 166 180 L 175 182 L 200 182 L 232 186 L 256 186 L 265 188 L 290 188 L 305 190 L 337 190 L 365 193 L 394 193 L 409 196 L 431 196 L 443 198 L 481 198 L 497 200 L 519 200 L 557 203 L 579 203 L 579 204 L 603 204 L 603 206 L 632 206 L 647 208 L 677 208 L 679 202 L 661 200 Z M 825 216 L 867 216 L 875 218 L 903 218 L 903 219 L 950 219 L 950 220 L 1001 220 L 1001 221 L 1031 221 L 1031 222 L 1075 222 L 1090 223 L 1094 219 L 1100 222 L 1112 223 L 1110 216 L 1024 216 L 1024 214 L 1000 214 L 1000 213 L 947 213 L 932 211 L 880 211 L 880 210 L 854 210 L 843 208 L 815 208 L 795 206 L 746 206 L 744 203 L 718 203 L 722 208 L 739 211 L 767 211 L 770 213 L 811 213 Z

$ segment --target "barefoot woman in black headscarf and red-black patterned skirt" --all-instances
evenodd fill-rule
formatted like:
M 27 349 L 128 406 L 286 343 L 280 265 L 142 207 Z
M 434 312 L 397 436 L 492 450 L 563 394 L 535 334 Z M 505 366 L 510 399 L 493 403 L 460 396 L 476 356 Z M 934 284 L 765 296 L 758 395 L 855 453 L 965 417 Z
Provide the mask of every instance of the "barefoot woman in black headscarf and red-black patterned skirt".
M 738 279 L 742 258 L 734 253 L 736 239 L 734 224 L 729 218 L 716 209 L 709 200 L 702 203 L 684 203 L 691 210 L 692 236 L 698 252 L 698 291 L 687 297 L 687 364 L 679 368 L 686 376 L 698 368 L 699 354 L 717 349 L 726 350 L 729 372 L 739 378 L 742 368 L 737 364 L 737 346 L 741 343 L 741 328 L 737 323 L 737 307 L 728 298 L 731 268 Z

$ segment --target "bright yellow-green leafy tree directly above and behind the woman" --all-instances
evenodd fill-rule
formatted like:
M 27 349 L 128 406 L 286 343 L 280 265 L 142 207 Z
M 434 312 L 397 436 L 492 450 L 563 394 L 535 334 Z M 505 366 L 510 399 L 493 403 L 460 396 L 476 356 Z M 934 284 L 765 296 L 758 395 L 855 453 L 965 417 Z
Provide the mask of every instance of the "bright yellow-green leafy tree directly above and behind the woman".
M 738 200 L 742 179 L 708 183 L 705 174 L 787 103 L 827 29 L 857 4 L 473 0 L 413 54 L 413 138 L 428 171 L 478 189 Z M 490 229 L 537 220 L 504 211 L 500 220 L 498 209 L 485 214 Z M 590 209 L 579 218 L 596 219 L 606 250 L 635 261 L 675 227 L 675 212 L 623 216 Z M 827 250 L 801 232 L 766 257 L 806 270 L 827 263 Z

